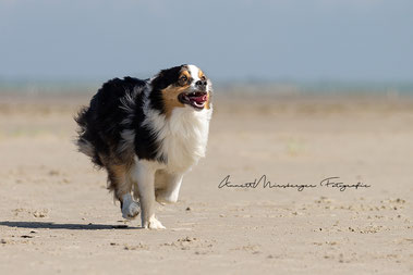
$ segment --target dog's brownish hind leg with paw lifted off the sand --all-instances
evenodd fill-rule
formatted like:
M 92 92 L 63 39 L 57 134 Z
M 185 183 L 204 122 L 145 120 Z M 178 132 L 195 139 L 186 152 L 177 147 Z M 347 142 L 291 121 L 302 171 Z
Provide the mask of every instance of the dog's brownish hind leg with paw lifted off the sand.
M 110 165 L 107 167 L 109 189 L 121 202 L 122 216 L 127 220 L 135 218 L 139 214 L 139 204 L 132 199 L 132 180 L 126 165 Z

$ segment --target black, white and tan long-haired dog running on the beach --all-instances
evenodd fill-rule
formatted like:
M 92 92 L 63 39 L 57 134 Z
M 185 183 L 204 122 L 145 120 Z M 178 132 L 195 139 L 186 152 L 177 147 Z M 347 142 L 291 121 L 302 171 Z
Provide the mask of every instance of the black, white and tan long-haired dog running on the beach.
M 166 228 L 155 201 L 177 202 L 182 178 L 205 157 L 212 84 L 195 65 L 161 70 L 149 79 L 114 78 L 75 116 L 78 151 L 108 172 L 108 189 L 127 220 Z

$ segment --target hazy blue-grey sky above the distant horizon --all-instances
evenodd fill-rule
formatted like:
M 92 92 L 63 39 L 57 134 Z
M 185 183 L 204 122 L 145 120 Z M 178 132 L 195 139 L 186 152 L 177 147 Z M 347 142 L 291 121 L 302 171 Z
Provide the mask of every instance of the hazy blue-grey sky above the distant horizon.
M 413 80 L 411 0 L 0 0 L 0 79 Z

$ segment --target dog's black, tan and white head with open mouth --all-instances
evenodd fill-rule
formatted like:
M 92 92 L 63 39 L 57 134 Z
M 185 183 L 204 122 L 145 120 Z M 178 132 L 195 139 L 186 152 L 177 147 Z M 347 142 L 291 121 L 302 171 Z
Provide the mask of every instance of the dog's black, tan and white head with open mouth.
M 210 109 L 211 82 L 195 65 L 162 70 L 151 80 L 151 104 L 169 115 L 174 108 Z

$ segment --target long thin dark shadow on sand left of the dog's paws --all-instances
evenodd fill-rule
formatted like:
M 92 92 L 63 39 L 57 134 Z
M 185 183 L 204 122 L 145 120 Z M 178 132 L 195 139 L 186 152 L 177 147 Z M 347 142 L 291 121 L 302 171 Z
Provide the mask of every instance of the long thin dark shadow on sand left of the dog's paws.
M 0 222 L 0 226 L 20 228 L 44 228 L 44 229 L 69 229 L 69 230 L 110 230 L 110 229 L 141 229 L 141 227 L 130 227 L 127 225 L 107 224 L 56 224 L 44 222 Z

